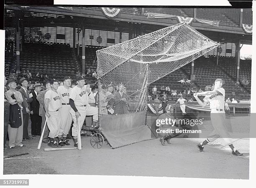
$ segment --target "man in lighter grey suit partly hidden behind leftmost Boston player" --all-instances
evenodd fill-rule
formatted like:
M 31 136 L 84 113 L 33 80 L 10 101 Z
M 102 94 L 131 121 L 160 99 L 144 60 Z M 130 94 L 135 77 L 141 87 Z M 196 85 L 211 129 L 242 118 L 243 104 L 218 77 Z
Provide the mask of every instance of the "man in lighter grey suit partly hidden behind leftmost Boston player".
M 38 100 L 39 102 L 39 114 L 41 117 L 42 117 L 42 124 L 41 124 L 41 132 L 43 131 L 43 128 L 44 128 L 44 123 L 45 123 L 45 110 L 44 110 L 44 95 L 45 93 L 48 91 L 48 90 L 51 90 L 51 84 L 50 82 L 46 82 L 46 90 L 43 90 L 43 91 L 40 91 L 38 92 L 38 95 L 36 97 L 36 99 Z M 46 124 L 45 126 L 45 129 L 44 129 L 44 135 L 43 135 L 43 142 L 44 143 L 47 143 L 48 142 L 48 135 L 50 133 L 50 130 Z M 41 133 L 42 134 L 42 133 Z

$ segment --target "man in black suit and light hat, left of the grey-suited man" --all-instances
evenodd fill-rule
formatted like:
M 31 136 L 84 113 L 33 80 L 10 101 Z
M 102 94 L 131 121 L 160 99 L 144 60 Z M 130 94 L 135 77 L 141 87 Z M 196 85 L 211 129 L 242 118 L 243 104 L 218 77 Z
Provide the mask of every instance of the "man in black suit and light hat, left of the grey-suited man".
M 34 85 L 34 90 L 32 91 L 32 102 L 30 105 L 30 118 L 31 118 L 31 134 L 32 136 L 36 135 L 41 135 L 41 123 L 42 123 L 42 118 L 39 115 L 39 102 L 36 99 L 38 92 L 41 91 L 41 84 L 36 83 Z

